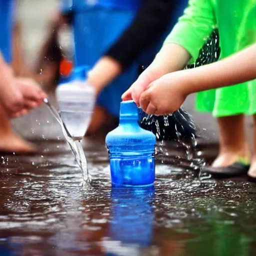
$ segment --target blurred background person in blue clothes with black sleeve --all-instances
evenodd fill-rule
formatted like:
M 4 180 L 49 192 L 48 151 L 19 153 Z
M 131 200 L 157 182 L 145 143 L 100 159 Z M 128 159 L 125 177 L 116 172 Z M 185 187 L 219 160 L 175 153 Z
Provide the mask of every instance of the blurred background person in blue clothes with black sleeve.
M 135 81 L 139 68 L 153 60 L 186 5 L 187 0 L 62 2 L 41 56 L 53 59 L 50 65 L 60 63 L 57 31 L 61 24 L 69 23 L 74 33 L 73 65 L 88 66 L 87 81 L 97 92 L 87 134 L 94 134 L 108 119 L 119 116 L 121 94 Z M 38 67 L 42 61 L 39 63 Z M 53 77 L 51 72 L 56 74 L 56 67 L 45 65 L 38 79 L 47 83 Z

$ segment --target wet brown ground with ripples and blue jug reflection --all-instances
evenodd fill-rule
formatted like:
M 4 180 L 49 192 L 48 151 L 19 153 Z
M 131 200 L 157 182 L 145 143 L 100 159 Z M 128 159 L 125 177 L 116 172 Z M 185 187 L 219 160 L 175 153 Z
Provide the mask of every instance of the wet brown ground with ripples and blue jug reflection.
M 61 140 L 37 141 L 38 155 L 1 157 L 0 255 L 255 255 L 256 185 L 201 176 L 199 158 L 212 148 L 189 162 L 183 147 L 161 144 L 154 188 L 118 189 L 93 141 L 89 187 Z

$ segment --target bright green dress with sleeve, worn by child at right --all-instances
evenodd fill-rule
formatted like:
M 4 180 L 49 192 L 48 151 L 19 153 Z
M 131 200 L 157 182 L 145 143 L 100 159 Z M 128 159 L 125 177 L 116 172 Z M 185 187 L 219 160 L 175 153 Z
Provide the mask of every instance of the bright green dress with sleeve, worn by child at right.
M 164 44 L 172 42 L 183 46 L 193 63 L 215 27 L 219 31 L 220 58 L 255 43 L 256 0 L 189 0 Z M 195 106 L 198 111 L 212 112 L 215 117 L 254 114 L 256 80 L 198 92 Z

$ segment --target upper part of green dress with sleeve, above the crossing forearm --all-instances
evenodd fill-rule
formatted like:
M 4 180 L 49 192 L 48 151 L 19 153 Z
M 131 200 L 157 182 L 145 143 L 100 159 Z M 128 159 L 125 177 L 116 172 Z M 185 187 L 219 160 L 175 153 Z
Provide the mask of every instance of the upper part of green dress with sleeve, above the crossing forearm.
M 183 46 L 193 61 L 214 27 L 219 31 L 221 58 L 254 43 L 256 0 L 189 0 L 164 43 Z

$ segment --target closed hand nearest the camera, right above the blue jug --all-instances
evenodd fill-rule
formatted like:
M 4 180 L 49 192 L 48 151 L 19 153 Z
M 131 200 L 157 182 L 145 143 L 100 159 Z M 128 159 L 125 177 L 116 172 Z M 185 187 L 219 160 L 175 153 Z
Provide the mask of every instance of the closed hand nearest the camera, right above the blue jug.
M 177 110 L 184 102 L 187 92 L 180 72 L 165 74 L 151 82 L 141 93 L 139 105 L 148 114 L 164 115 Z

